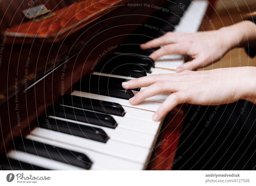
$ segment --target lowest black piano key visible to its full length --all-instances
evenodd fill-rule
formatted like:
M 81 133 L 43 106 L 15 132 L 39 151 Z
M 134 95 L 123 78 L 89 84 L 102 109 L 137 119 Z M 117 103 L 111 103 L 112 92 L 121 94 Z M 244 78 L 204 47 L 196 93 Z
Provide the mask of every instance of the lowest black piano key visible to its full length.
M 19 151 L 82 167 L 84 169 L 90 169 L 92 165 L 92 161 L 83 153 L 70 151 L 60 147 L 53 147 L 52 145 L 25 138 L 17 138 L 14 142 L 14 147 Z

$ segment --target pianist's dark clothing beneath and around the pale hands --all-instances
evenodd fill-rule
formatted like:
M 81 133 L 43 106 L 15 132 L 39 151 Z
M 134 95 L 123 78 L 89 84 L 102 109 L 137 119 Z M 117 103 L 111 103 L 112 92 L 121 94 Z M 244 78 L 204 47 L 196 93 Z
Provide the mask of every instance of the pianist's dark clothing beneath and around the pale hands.
M 256 19 L 249 19 L 256 23 Z M 256 47 L 246 49 L 254 57 Z M 189 105 L 174 170 L 255 170 L 256 105 Z

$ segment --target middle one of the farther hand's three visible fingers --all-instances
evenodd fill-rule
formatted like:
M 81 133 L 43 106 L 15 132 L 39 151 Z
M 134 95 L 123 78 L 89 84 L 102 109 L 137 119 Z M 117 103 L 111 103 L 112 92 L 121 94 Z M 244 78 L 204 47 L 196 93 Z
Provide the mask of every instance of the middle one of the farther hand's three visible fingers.
M 154 51 L 152 54 L 149 55 L 149 57 L 152 58 L 153 60 L 156 60 L 157 58 L 160 58 L 164 55 L 181 54 L 181 53 L 183 54 L 183 52 L 185 51 L 181 49 L 177 44 L 168 44 Z

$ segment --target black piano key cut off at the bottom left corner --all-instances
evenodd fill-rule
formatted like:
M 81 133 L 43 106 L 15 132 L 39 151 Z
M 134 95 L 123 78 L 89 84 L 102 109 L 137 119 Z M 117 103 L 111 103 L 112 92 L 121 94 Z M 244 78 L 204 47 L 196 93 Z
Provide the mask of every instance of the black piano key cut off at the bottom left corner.
M 0 170 L 49 170 L 16 159 L 0 156 Z

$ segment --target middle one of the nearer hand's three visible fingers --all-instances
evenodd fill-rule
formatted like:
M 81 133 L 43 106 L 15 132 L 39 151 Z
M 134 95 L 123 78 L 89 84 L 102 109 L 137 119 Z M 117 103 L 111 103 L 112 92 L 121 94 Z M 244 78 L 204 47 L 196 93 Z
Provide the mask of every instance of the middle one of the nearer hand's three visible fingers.
M 175 81 L 157 81 L 153 85 L 150 85 L 146 89 L 140 90 L 134 97 L 129 99 L 130 104 L 137 105 L 146 98 L 156 96 L 158 94 L 172 93 L 178 91 L 177 87 L 174 86 Z M 177 84 L 177 83 L 176 83 Z M 170 87 L 172 89 L 170 89 Z

